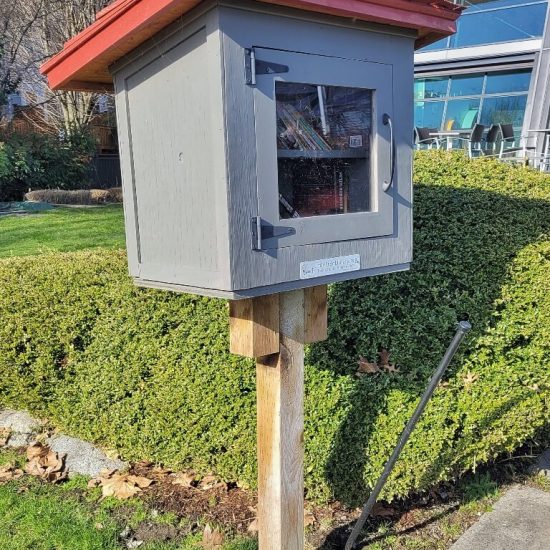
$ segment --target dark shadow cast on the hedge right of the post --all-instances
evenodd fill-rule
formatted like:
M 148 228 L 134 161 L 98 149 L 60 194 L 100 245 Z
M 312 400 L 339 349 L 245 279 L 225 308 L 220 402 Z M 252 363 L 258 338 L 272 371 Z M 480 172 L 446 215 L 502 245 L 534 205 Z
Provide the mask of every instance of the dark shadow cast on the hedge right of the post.
M 350 506 L 362 504 L 368 496 L 365 479 L 372 485 L 381 473 L 450 342 L 456 321 L 469 319 L 474 329 L 451 365 L 449 377 L 472 354 L 479 336 L 495 323 L 499 307 L 495 301 L 509 278 L 511 262 L 520 250 L 550 230 L 549 202 L 472 187 L 417 185 L 415 209 L 412 270 L 334 285 L 329 339 L 309 353 L 309 363 L 316 368 L 352 375 L 359 356 L 373 361 L 385 348 L 401 369 L 399 374 L 379 373 L 357 380 L 347 398 L 348 412 L 332 443 L 325 475 L 333 496 Z M 384 430 L 376 426 L 381 416 L 390 417 L 389 396 L 395 392 L 403 394 L 399 403 L 408 403 L 410 410 L 394 412 L 399 415 L 397 422 L 383 421 L 394 429 L 385 434 L 387 439 L 381 439 Z M 476 434 L 491 432 L 517 404 L 517 397 L 512 397 L 490 411 Z M 452 440 L 440 442 L 443 435 L 438 430 L 449 424 L 454 424 Z M 427 441 L 426 446 L 440 446 L 439 456 L 419 472 L 416 480 L 421 481 L 416 486 L 437 482 L 449 463 L 472 444 L 475 436 L 465 436 L 461 430 L 460 418 L 438 421 L 433 442 Z M 375 431 L 374 446 L 384 456 L 369 454 Z M 369 465 L 371 460 L 374 462 Z M 412 486 L 411 480 L 404 483 Z

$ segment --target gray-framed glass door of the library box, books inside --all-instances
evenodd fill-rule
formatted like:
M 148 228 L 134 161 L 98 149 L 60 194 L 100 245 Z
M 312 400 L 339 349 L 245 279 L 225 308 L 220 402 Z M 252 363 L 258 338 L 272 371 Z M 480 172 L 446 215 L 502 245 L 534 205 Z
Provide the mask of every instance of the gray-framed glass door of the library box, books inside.
M 391 66 L 254 56 L 258 248 L 392 234 Z

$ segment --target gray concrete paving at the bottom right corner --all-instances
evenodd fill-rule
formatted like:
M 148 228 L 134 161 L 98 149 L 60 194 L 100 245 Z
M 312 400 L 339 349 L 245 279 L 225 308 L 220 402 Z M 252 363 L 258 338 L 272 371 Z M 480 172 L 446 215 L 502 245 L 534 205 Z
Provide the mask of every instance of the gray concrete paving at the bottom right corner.
M 550 493 L 512 487 L 452 550 L 549 550 Z

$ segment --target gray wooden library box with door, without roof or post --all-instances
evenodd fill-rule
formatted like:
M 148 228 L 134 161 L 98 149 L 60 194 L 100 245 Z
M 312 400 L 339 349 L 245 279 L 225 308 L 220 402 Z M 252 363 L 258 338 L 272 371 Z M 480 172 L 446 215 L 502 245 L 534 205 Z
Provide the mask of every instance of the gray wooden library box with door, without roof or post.
M 137 284 L 239 299 L 407 269 L 414 40 L 207 2 L 117 62 Z

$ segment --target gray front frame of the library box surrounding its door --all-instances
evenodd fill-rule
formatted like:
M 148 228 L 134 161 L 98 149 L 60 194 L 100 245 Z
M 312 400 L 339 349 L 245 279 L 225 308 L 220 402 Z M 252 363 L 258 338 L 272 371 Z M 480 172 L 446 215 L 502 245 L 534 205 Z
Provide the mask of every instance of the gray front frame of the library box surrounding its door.
M 391 36 L 230 8 L 220 10 L 220 22 L 226 60 L 232 288 L 242 291 L 297 281 L 300 262 L 320 258 L 360 254 L 361 267 L 366 270 L 365 273 L 376 270 L 377 274 L 383 268 L 390 272 L 392 266 L 401 266 L 402 269 L 404 264 L 410 263 L 413 39 L 410 36 Z M 281 30 L 283 25 L 284 32 Z M 394 233 L 391 236 L 293 246 L 267 252 L 251 250 L 248 220 L 251 216 L 259 215 L 255 186 L 256 181 L 263 177 L 263 174 L 256 172 L 260 163 L 253 139 L 254 133 L 258 131 L 258 121 L 252 115 L 254 89 L 243 84 L 240 70 L 244 50 L 251 47 L 292 49 L 321 56 L 384 63 L 393 67 L 392 101 L 397 167 L 396 182 L 391 191 L 394 198 Z M 388 89 L 391 89 L 391 83 L 388 83 Z M 379 161 L 384 162 L 383 159 Z M 238 185 L 234 184 L 235 174 L 238 174 Z M 237 196 L 240 200 L 236 200 Z M 347 274 L 347 278 L 353 278 L 353 275 Z M 338 277 L 334 279 L 341 280 Z

